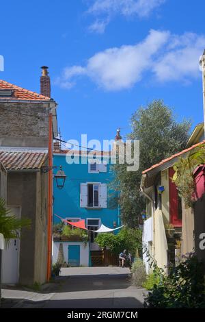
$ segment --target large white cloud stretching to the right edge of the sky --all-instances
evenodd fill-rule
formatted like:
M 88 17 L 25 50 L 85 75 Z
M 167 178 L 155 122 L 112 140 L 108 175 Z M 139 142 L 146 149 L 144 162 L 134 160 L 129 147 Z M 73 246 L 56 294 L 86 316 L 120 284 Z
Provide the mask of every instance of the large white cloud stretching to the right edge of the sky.
M 143 77 L 155 83 L 190 82 L 200 75 L 199 58 L 204 44 L 205 36 L 180 36 L 152 29 L 136 45 L 106 49 L 88 59 L 85 66 L 66 67 L 56 83 L 71 88 L 83 75 L 105 90 L 131 88 Z

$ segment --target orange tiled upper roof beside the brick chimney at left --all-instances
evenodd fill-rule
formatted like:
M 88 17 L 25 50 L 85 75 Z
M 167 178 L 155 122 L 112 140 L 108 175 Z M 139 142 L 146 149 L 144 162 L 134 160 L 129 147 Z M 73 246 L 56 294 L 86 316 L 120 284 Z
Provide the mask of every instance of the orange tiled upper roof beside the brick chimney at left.
M 0 90 L 12 90 L 12 96 L 0 97 L 0 99 L 19 99 L 26 101 L 50 101 L 50 97 L 40 95 L 37 92 L 31 92 L 25 88 L 10 84 L 0 79 Z

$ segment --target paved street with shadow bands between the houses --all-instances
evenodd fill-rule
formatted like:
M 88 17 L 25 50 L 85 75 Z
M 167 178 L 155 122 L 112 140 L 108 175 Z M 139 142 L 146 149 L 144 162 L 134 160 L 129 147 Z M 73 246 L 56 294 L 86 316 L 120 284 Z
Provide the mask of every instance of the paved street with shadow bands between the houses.
M 61 269 L 39 291 L 3 287 L 2 297 L 8 308 L 143 308 L 145 293 L 132 285 L 127 268 L 77 267 Z

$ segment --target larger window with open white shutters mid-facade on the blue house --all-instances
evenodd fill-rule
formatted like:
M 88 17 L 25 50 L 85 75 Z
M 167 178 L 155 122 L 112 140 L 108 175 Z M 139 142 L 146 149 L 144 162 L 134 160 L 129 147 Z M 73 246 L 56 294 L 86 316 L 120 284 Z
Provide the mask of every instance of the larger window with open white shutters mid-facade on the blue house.
M 81 208 L 107 208 L 107 184 L 87 182 L 81 184 Z

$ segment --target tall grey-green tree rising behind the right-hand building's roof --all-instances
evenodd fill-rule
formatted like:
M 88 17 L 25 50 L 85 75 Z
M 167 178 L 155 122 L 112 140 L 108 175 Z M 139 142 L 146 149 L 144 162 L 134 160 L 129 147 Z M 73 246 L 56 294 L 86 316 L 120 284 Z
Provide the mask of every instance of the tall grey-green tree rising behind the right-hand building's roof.
M 120 191 L 122 221 L 129 227 L 139 225 L 139 215 L 145 209 L 145 200 L 139 192 L 141 172 L 184 149 L 190 121 L 176 122 L 172 109 L 156 100 L 146 108 L 139 108 L 131 117 L 129 139 L 140 140 L 139 170 L 126 171 L 126 164 L 112 166 L 115 179 L 111 188 Z

